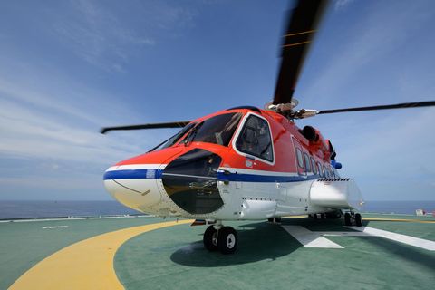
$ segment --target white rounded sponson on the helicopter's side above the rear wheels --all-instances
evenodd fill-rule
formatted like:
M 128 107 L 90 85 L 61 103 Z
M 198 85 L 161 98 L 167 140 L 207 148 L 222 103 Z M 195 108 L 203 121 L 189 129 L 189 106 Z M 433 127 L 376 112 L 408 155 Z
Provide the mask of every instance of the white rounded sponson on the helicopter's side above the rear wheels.
M 317 179 L 310 189 L 310 202 L 323 208 L 355 208 L 360 210 L 364 201 L 353 179 Z

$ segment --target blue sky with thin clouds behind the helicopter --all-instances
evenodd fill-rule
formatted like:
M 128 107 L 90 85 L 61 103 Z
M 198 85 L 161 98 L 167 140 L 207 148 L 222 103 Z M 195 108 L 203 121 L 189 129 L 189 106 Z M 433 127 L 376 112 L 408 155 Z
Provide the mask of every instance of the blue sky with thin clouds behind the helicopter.
M 0 1 L 0 199 L 111 199 L 105 169 L 185 121 L 275 90 L 292 1 Z M 435 1 L 335 0 L 296 87 L 299 108 L 435 100 Z M 367 200 L 435 200 L 435 108 L 298 121 L 332 140 Z

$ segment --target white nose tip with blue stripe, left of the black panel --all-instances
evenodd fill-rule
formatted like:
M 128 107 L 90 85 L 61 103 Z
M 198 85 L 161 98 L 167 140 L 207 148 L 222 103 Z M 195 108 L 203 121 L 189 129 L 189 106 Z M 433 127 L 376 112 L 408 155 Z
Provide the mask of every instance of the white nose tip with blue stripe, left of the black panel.
M 158 166 L 113 166 L 104 173 L 104 187 L 123 205 L 143 212 L 152 212 L 160 203 Z

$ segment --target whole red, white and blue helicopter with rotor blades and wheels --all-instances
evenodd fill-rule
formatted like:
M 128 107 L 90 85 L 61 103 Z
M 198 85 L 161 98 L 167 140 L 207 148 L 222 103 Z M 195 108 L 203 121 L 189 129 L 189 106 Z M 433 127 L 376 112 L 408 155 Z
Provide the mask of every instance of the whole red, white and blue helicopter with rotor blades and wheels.
M 433 106 L 411 102 L 338 110 L 295 110 L 292 98 L 324 14 L 326 0 L 301 0 L 289 14 L 273 102 L 264 110 L 241 106 L 194 121 L 103 128 L 177 128 L 181 131 L 145 154 L 123 160 L 104 174 L 104 186 L 127 207 L 164 217 L 207 220 L 208 250 L 237 249 L 237 232 L 228 220 L 279 221 L 308 214 L 339 218 L 362 226 L 362 194 L 353 179 L 341 178 L 330 140 L 295 120 L 317 114 Z

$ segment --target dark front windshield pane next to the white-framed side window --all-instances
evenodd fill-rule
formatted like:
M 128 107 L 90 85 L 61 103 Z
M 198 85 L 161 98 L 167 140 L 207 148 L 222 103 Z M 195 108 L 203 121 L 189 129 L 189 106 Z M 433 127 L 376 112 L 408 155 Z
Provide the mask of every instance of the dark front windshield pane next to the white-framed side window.
M 241 113 L 233 112 L 202 121 L 189 132 L 185 142 L 208 142 L 228 146 L 241 117 Z

